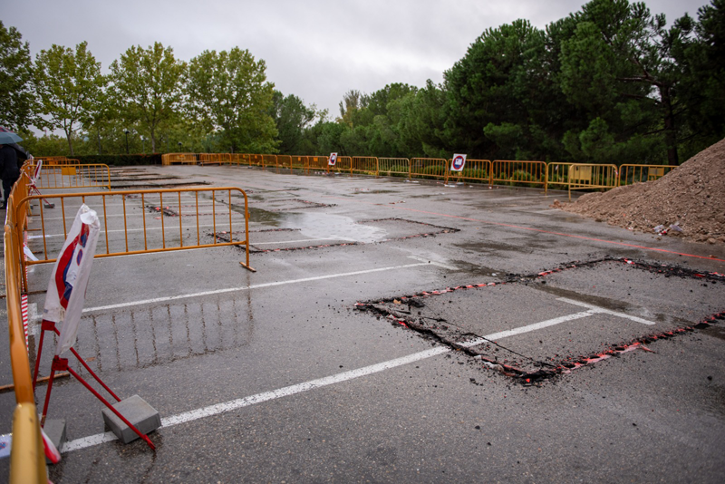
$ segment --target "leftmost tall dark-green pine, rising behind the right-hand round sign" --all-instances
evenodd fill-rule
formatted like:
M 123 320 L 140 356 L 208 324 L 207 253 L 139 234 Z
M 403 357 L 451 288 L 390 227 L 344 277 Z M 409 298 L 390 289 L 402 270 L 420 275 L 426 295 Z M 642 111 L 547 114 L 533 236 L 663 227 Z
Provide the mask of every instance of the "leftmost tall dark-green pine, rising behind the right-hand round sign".
M 533 111 L 550 80 L 540 65 L 545 34 L 526 20 L 487 29 L 445 73 L 446 140 L 471 158 L 529 156 Z M 545 89 L 542 89 L 545 88 Z

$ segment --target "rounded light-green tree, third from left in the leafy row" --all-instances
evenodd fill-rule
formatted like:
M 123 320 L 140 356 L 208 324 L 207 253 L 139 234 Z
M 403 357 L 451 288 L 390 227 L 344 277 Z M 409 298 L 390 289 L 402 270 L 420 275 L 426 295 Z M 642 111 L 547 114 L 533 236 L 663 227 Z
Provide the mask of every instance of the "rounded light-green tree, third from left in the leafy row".
M 126 119 L 138 121 L 157 151 L 159 129 L 179 109 L 187 64 L 174 58 L 173 49 L 159 42 L 148 49 L 132 46 L 111 63 L 112 93 Z

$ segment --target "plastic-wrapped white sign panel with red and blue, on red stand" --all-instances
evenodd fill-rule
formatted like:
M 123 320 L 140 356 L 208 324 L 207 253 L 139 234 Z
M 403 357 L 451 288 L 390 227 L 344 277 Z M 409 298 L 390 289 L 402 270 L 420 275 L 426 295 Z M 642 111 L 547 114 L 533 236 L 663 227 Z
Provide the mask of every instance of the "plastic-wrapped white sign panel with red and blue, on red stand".
M 56 356 L 75 344 L 100 231 L 101 222 L 96 212 L 83 204 L 55 261 L 45 295 L 43 319 L 53 321 L 61 332 Z

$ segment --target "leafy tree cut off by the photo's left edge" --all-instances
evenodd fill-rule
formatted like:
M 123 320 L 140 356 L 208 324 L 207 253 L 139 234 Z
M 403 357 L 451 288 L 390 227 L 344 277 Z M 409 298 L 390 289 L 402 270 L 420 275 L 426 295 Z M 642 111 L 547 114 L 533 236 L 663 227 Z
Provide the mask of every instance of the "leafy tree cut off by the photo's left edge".
M 15 27 L 0 21 L 0 124 L 13 131 L 33 122 L 33 63 L 28 43 Z

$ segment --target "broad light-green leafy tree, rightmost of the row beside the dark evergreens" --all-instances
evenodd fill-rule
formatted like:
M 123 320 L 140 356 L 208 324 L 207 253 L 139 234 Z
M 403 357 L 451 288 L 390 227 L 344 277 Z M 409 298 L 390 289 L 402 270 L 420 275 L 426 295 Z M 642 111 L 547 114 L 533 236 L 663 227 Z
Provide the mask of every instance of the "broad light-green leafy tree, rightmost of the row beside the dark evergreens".
M 188 109 L 234 151 L 275 152 L 275 120 L 269 115 L 275 86 L 266 82 L 264 60 L 249 51 L 204 51 L 189 63 Z

